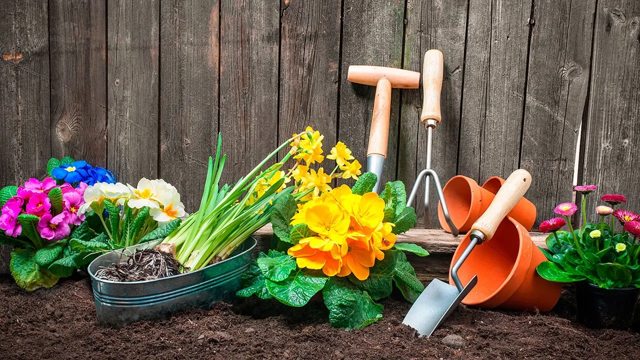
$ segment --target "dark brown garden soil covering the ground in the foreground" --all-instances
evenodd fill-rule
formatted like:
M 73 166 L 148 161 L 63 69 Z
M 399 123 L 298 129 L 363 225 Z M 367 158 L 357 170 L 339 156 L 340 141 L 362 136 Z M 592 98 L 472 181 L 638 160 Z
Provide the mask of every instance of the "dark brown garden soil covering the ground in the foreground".
M 402 325 L 408 303 L 382 304 L 383 320 L 360 331 L 332 329 L 319 302 L 291 309 L 258 300 L 116 330 L 98 327 L 86 278 L 26 293 L 5 275 L 0 359 L 640 359 L 640 334 L 572 322 L 570 290 L 547 315 L 461 306 L 429 339 Z M 461 343 L 443 343 L 450 334 Z

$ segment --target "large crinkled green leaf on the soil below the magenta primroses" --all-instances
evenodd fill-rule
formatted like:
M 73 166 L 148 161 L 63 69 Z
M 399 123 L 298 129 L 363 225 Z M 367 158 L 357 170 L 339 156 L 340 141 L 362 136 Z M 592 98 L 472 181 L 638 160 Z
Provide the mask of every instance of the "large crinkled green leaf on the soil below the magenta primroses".
M 51 288 L 58 277 L 51 274 L 47 268 L 35 262 L 35 251 L 26 249 L 13 249 L 9 269 L 16 284 L 26 291 L 39 288 Z

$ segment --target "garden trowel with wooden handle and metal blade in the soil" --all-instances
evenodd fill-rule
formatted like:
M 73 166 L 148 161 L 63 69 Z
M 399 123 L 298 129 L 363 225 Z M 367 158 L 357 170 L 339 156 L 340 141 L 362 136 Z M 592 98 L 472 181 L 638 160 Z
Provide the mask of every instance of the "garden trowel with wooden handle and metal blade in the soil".
M 433 279 L 404 317 L 405 325 L 416 329 L 420 336 L 429 337 L 445 318 L 451 315 L 456 306 L 477 284 L 477 275 L 475 275 L 466 286 L 463 286 L 458 278 L 458 269 L 476 245 L 491 240 L 502 219 L 522 199 L 529 185 L 531 185 L 531 175 L 527 170 L 519 169 L 511 173 L 489 208 L 476 220 L 467 234 L 470 238 L 469 245 L 451 268 L 451 279 L 456 286 Z

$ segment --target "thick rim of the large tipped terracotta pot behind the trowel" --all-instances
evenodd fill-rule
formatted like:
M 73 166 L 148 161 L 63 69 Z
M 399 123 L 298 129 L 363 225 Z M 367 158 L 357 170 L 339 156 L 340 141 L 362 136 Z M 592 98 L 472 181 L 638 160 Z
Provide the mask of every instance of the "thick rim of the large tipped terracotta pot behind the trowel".
M 467 298 L 465 298 L 465 300 L 463 300 L 463 304 L 465 305 L 471 305 L 471 306 L 482 306 L 482 307 L 497 307 L 500 306 L 501 304 L 503 304 L 504 302 L 506 302 L 507 300 L 509 300 L 509 298 L 516 292 L 518 291 L 518 288 L 520 288 L 520 286 L 522 285 L 522 282 L 524 282 L 525 277 L 527 276 L 527 272 L 526 271 L 518 271 L 522 266 L 526 265 L 526 268 L 529 268 L 529 266 L 531 265 L 531 260 L 532 260 L 532 256 L 531 256 L 531 251 L 532 251 L 532 241 L 531 238 L 527 239 L 527 237 L 525 235 L 528 234 L 528 232 L 526 232 L 526 229 L 524 228 L 524 226 L 522 226 L 520 223 L 518 223 L 515 219 L 511 218 L 511 217 L 506 217 L 504 218 L 504 221 L 509 221 L 511 222 L 511 224 L 513 224 L 513 226 L 516 228 L 516 231 L 518 232 L 518 252 L 516 254 L 516 259 L 513 263 L 513 265 L 511 266 L 511 271 L 509 272 L 509 275 L 502 281 L 502 284 L 500 284 L 500 286 L 498 286 L 492 293 L 490 293 L 489 295 L 487 295 L 486 297 L 483 297 L 482 299 L 477 299 L 477 300 L 468 300 L 468 295 Z M 526 233 L 524 233 L 526 232 Z M 465 240 L 467 240 L 469 234 L 467 234 L 465 236 Z M 528 241 L 527 241 L 528 240 Z M 489 240 L 491 241 L 491 240 Z M 479 246 L 485 246 L 488 245 L 489 241 L 487 241 L 486 243 L 484 243 L 483 245 L 479 245 Z M 460 246 L 458 246 L 458 249 L 456 249 L 456 252 L 454 253 L 453 259 L 458 259 L 460 258 L 460 254 L 461 251 L 463 249 L 461 249 Z M 526 253 L 529 253 L 529 256 L 527 256 Z M 525 261 L 527 263 L 525 263 Z M 516 274 L 516 272 L 518 274 Z M 477 274 L 478 277 L 480 277 L 480 274 Z M 517 278 L 519 277 L 519 279 Z M 451 273 L 449 274 L 449 283 L 452 283 L 451 280 Z M 476 286 L 481 286 L 481 284 L 477 284 Z

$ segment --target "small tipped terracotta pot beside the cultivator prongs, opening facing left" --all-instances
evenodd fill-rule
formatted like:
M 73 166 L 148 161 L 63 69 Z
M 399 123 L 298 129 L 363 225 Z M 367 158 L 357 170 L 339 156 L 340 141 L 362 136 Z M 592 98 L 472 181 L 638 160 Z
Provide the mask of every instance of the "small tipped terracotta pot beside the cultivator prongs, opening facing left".
M 481 188 L 474 179 L 461 175 L 454 176 L 447 181 L 442 192 L 447 202 L 447 208 L 449 208 L 451 220 L 458 227 L 460 233 L 469 231 L 471 225 L 483 215 L 495 197 L 495 194 Z M 438 220 L 442 229 L 451 233 L 439 202 Z

